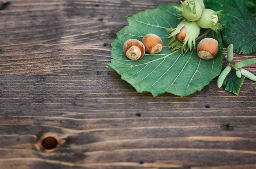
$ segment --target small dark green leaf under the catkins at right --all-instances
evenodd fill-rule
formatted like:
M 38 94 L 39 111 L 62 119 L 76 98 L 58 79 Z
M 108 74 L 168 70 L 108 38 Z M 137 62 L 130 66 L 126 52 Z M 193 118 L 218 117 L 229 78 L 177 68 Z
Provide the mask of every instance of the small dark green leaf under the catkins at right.
M 222 70 L 225 69 L 225 67 L 222 67 Z M 236 96 L 239 96 L 239 91 L 243 85 L 243 82 L 245 80 L 245 77 L 242 76 L 241 78 L 238 78 L 236 76 L 236 70 L 231 69 L 227 77 L 225 78 L 223 82 L 223 86 L 225 87 L 225 90 L 227 92 L 232 92 Z

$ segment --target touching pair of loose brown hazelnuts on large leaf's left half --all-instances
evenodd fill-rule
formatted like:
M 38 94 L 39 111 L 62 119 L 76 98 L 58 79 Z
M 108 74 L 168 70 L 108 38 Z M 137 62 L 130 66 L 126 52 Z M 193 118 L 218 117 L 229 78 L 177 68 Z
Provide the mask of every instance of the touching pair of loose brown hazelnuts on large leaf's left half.
M 137 39 L 126 40 L 123 49 L 127 58 L 130 60 L 139 60 L 146 52 L 155 54 L 162 51 L 163 41 L 156 34 L 148 33 L 142 38 L 142 42 Z

